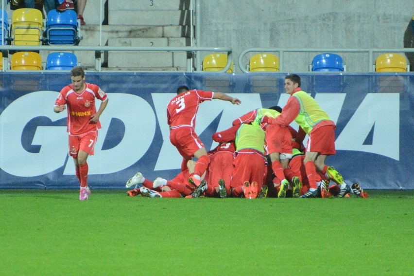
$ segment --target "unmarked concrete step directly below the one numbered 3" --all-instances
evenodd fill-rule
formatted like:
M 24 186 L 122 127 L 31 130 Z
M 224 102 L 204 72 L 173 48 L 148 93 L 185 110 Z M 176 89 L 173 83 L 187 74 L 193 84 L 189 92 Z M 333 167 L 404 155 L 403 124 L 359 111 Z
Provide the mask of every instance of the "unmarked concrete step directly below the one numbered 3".
M 109 25 L 190 25 L 190 11 L 108 11 Z

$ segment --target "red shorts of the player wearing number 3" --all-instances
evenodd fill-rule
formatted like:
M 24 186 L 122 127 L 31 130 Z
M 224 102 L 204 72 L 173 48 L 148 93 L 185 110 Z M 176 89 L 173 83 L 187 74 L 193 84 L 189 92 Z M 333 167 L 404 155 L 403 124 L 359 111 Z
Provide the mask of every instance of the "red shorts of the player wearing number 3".
M 194 157 L 194 153 L 204 147 L 203 142 L 198 138 L 191 127 L 180 127 L 170 130 L 170 141 L 185 159 Z

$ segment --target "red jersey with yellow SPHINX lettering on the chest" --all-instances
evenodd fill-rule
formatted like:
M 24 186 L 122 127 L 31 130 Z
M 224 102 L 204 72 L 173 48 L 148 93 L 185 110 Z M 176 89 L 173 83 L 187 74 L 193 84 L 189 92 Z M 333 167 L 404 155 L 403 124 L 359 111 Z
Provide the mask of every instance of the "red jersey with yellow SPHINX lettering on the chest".
M 54 106 L 67 105 L 68 133 L 78 136 L 101 128 L 101 123 L 91 123 L 90 117 L 96 113 L 95 98 L 106 101 L 108 95 L 95 84 L 85 82 L 85 90 L 76 93 L 73 85 L 65 86 L 59 93 Z

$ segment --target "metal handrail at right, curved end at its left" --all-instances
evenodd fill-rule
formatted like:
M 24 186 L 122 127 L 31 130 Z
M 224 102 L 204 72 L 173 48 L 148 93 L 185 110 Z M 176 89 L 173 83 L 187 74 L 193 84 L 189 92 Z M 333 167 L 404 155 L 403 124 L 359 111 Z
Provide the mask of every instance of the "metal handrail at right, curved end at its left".
M 242 59 L 247 53 L 257 52 L 257 53 L 278 53 L 279 55 L 279 71 L 283 72 L 283 54 L 284 53 L 309 53 L 309 52 L 316 52 L 316 53 L 367 53 L 368 54 L 368 62 L 369 62 L 369 72 L 374 72 L 373 64 L 374 64 L 374 53 L 414 53 L 414 48 L 345 48 L 345 49 L 334 49 L 334 48 L 250 48 L 244 50 L 238 59 L 238 65 L 240 70 L 244 73 L 254 73 L 247 71 L 244 66 Z M 413 64 L 414 66 L 414 64 Z

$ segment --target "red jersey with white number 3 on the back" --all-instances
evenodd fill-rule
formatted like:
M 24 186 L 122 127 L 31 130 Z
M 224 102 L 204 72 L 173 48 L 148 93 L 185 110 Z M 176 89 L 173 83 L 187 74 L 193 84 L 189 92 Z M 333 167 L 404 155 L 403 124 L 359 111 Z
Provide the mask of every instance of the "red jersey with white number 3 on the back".
M 167 106 L 167 123 L 171 128 L 195 128 L 195 116 L 200 103 L 211 101 L 214 92 L 189 90 L 176 95 Z

